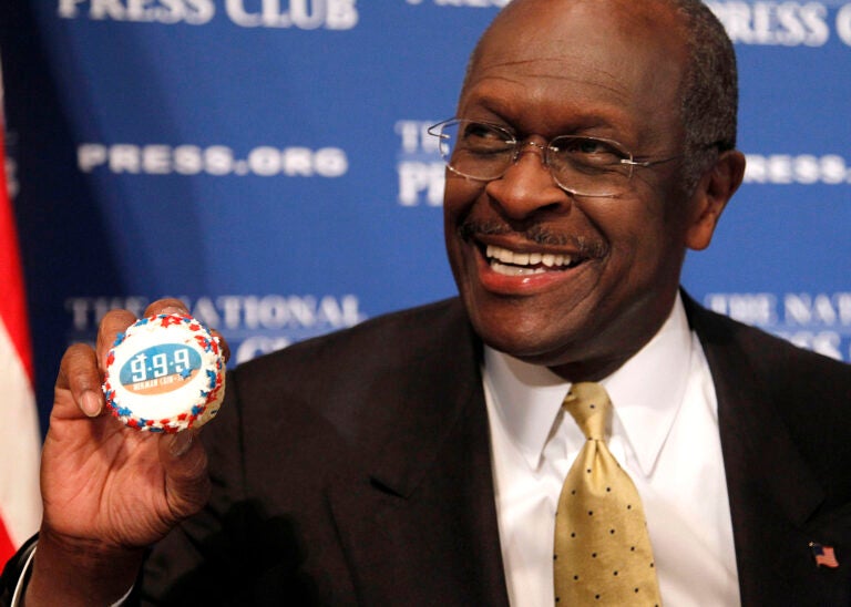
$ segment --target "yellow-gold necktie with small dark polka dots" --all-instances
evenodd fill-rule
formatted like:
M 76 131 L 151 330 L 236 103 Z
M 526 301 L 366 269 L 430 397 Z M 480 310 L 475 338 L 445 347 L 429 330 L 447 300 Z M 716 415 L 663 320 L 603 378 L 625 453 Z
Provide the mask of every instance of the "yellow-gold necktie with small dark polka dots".
M 555 516 L 556 605 L 662 605 L 644 508 L 629 475 L 606 446 L 612 409 L 597 383 L 564 399 L 587 438 L 562 487 Z

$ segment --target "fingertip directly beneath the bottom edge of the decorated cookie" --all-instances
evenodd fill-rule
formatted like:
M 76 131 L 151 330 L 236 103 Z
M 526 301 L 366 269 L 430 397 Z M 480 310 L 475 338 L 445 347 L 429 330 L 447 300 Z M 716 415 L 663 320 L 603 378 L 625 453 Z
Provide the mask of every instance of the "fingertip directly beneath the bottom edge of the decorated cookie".
M 209 497 L 207 453 L 196 430 L 170 434 L 160 441 L 160 461 L 165 470 L 165 491 L 172 514 L 185 518 Z

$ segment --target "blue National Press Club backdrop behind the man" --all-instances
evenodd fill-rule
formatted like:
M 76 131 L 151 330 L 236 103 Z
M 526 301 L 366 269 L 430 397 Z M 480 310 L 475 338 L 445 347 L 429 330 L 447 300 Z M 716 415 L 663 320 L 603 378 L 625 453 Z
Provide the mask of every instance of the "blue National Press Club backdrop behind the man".
M 506 0 L 3 0 L 8 171 L 42 419 L 70 341 L 165 295 L 235 359 L 454 292 L 443 165 Z M 851 360 L 851 2 L 709 2 L 746 184 L 685 285 Z

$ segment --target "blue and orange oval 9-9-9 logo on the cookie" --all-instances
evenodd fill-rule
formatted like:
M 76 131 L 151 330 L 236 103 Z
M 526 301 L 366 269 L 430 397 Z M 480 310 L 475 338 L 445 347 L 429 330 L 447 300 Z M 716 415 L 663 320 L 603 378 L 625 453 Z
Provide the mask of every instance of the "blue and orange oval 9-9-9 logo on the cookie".
M 136 394 L 164 394 L 183 388 L 199 369 L 197 351 L 183 343 L 162 343 L 131 357 L 121 368 L 119 381 Z

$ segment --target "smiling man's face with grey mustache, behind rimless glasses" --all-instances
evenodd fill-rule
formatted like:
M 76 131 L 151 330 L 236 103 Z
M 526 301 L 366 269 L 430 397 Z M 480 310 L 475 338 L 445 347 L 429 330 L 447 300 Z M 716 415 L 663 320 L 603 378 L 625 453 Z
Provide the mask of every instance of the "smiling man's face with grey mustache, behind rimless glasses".
M 586 135 L 617 141 L 639 160 L 680 154 L 683 30 L 655 6 L 516 1 L 483 42 L 458 116 L 539 144 Z M 553 182 L 540 148 L 523 150 L 500 179 L 447 173 L 455 281 L 485 342 L 568 379 L 595 379 L 670 311 L 693 205 L 677 161 L 637 167 L 616 198 L 573 197 Z M 539 256 L 562 265 L 533 266 Z

